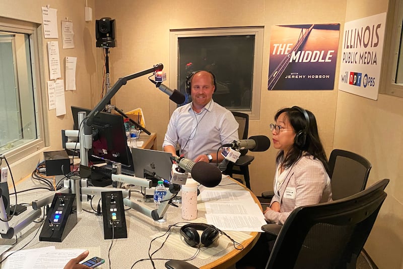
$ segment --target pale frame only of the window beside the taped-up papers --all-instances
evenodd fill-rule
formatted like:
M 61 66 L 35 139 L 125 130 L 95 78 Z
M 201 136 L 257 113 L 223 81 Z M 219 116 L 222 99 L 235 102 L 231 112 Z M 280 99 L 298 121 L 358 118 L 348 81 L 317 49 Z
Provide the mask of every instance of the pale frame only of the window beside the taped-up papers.
M 44 79 L 42 26 L 33 22 L 0 17 L 0 31 L 28 34 L 30 39 L 31 70 L 37 138 L 4 153 L 9 163 L 15 163 L 28 155 L 49 146 L 47 123 L 47 95 Z

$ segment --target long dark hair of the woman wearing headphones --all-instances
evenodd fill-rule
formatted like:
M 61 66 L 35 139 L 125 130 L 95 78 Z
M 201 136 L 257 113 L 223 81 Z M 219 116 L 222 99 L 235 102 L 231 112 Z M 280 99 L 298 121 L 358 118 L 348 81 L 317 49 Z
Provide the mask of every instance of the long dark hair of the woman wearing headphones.
M 285 169 L 290 168 L 302 156 L 302 152 L 305 151 L 307 154 L 312 155 L 314 158 L 320 160 L 320 162 L 323 164 L 323 167 L 326 169 L 327 174 L 329 174 L 329 164 L 327 162 L 326 153 L 324 152 L 322 143 L 320 142 L 316 118 L 312 112 L 306 110 L 306 113 L 309 116 L 309 126 L 307 126 L 307 121 L 304 114 L 295 107 L 279 110 L 274 116 L 275 121 L 277 121 L 282 113 L 286 114 L 296 134 L 307 127 L 306 140 L 305 145 L 302 148 L 299 148 L 294 143 L 287 156 L 284 156 L 284 151 L 280 150 L 277 154 L 276 162 L 278 164 L 283 163 L 283 167 Z

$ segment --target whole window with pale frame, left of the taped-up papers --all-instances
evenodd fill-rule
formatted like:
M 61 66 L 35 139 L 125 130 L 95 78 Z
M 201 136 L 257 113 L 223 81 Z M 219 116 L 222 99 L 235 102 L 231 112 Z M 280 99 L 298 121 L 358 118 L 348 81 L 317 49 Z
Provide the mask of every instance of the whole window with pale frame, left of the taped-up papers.
M 44 147 L 39 42 L 37 25 L 0 18 L 0 154 L 9 162 Z

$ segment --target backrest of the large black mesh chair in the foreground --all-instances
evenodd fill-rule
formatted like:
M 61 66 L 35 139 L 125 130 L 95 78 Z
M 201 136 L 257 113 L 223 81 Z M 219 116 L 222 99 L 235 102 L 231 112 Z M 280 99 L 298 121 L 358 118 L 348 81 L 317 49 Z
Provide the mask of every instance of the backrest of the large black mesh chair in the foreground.
M 355 268 L 386 198 L 383 179 L 337 201 L 301 206 L 284 223 L 267 261 L 272 268 Z

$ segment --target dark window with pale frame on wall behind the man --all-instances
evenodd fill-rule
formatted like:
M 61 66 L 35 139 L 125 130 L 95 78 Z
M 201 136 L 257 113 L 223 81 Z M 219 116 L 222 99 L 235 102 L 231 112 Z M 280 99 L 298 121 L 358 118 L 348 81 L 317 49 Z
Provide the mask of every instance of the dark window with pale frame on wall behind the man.
M 171 71 L 179 91 L 185 93 L 186 76 L 198 70 L 216 76 L 214 101 L 231 111 L 248 113 L 258 119 L 263 28 L 224 28 L 171 31 L 172 48 L 177 55 Z

